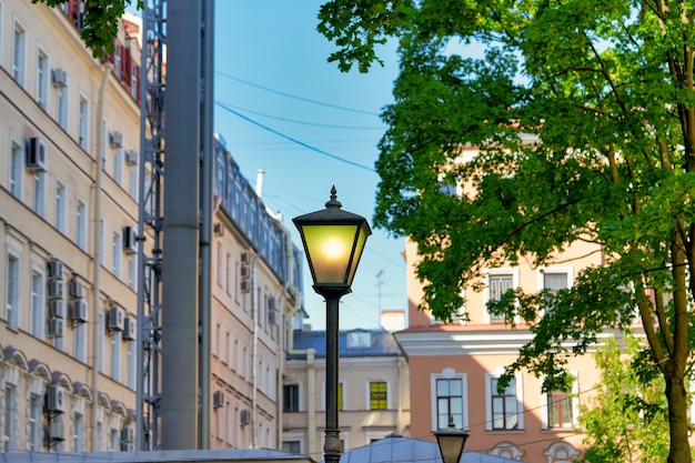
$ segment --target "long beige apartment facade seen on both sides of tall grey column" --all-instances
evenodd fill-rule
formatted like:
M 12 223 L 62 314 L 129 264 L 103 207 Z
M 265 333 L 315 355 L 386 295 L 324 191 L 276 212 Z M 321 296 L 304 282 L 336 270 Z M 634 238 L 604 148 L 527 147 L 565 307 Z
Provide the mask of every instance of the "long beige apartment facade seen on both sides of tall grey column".
M 141 22 L 103 60 L 81 26 L 0 0 L 0 452 L 134 450 Z M 215 155 L 210 445 L 276 449 L 303 256 Z

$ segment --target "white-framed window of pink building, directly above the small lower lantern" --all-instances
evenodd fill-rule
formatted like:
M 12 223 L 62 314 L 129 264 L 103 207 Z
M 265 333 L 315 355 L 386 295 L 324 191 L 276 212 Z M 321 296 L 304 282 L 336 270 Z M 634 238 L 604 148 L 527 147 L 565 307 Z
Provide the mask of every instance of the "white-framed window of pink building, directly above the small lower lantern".
M 454 419 L 454 424 L 460 429 L 467 429 L 466 410 L 466 376 L 454 374 L 452 369 L 445 369 L 442 374 L 434 375 L 435 392 L 435 430 L 449 427 L 449 419 Z

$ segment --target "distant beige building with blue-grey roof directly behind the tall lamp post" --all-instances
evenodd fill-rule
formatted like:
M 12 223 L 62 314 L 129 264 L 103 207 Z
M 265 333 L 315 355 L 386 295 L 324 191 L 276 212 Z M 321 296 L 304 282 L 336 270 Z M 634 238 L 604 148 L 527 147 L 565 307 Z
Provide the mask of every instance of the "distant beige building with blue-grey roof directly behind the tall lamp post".
M 325 332 L 304 330 L 295 318 L 294 349 L 283 384 L 283 450 L 323 459 Z M 340 333 L 339 427 L 343 451 L 389 434 L 411 434 L 409 365 L 391 332 Z

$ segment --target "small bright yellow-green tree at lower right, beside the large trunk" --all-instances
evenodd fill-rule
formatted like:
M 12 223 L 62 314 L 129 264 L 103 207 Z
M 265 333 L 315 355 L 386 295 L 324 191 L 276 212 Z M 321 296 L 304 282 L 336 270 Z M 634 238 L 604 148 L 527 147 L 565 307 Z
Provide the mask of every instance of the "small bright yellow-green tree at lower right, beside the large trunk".
M 610 340 L 595 354 L 601 369 L 596 395 L 578 417 L 585 443 L 583 461 L 661 463 L 668 455 L 668 411 L 664 379 L 642 362 L 643 345 L 633 336 L 621 353 Z

